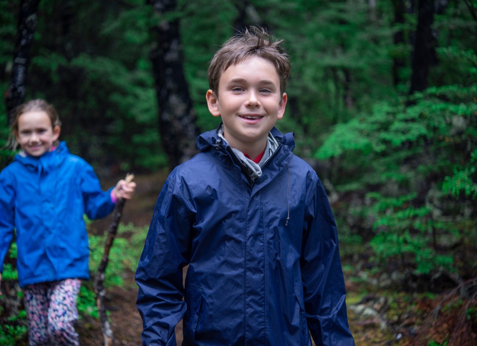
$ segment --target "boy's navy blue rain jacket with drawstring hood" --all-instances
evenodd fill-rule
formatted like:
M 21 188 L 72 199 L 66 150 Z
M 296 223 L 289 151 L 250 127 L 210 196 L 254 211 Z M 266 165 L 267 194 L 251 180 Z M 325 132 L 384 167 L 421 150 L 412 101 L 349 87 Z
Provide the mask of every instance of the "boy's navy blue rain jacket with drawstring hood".
M 171 172 L 136 272 L 143 345 L 175 345 L 181 318 L 183 345 L 354 344 L 325 191 L 293 134 L 272 134 L 253 183 L 215 130 Z

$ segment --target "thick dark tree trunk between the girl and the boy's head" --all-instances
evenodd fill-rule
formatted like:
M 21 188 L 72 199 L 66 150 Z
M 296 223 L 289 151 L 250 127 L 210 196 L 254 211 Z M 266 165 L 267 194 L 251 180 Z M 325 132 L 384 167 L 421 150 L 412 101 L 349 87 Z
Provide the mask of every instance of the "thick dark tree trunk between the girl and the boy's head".
M 147 0 L 147 4 L 158 15 L 176 9 L 175 0 Z M 197 152 L 195 141 L 199 131 L 182 66 L 179 21 L 163 21 L 154 31 L 157 37 L 150 59 L 159 104 L 159 134 L 172 169 Z

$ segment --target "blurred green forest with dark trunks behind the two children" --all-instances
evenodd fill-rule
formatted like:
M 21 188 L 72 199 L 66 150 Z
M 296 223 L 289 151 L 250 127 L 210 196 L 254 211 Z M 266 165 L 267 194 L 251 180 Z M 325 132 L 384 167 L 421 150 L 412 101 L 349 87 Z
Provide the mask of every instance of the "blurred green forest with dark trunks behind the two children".
M 332 203 L 349 313 L 366 316 L 356 344 L 374 344 L 369 325 L 388 344 L 475 344 L 476 1 L 0 0 L 0 168 L 13 157 L 12 109 L 44 98 L 101 181 L 167 176 L 218 125 L 207 64 L 249 25 L 285 39 L 292 78 L 277 127 L 295 133 Z M 147 232 L 123 227 L 142 236 L 115 243 L 137 249 L 127 264 L 112 253 L 109 285 L 124 285 Z M 91 234 L 92 269 L 103 239 Z M 2 285 L 15 287 L 15 244 L 11 257 Z M 14 291 L 1 344 L 25 340 Z M 80 310 L 94 315 L 94 303 Z

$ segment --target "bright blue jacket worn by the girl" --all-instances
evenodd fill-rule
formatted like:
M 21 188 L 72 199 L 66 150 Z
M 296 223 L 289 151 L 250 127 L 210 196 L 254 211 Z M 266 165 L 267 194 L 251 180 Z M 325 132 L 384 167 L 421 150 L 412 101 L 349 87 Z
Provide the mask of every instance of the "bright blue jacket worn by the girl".
M 89 279 L 83 215 L 108 215 L 111 189 L 101 190 L 93 168 L 65 142 L 40 157 L 17 154 L 0 172 L 0 271 L 16 229 L 20 286 Z

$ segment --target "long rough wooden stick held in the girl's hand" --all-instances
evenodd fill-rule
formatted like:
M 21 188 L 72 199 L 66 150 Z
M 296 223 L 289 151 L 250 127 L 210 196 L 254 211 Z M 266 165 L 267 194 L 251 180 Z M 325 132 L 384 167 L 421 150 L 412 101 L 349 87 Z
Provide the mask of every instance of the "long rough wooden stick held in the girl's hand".
M 133 174 L 126 175 L 126 182 L 131 183 L 134 179 Z M 113 219 L 111 224 L 107 229 L 107 238 L 104 244 L 104 253 L 99 263 L 98 271 L 94 276 L 94 291 L 96 293 L 96 306 L 98 307 L 99 319 L 101 321 L 101 331 L 104 338 L 104 346 L 112 345 L 112 330 L 107 320 L 106 307 L 104 306 L 104 296 L 106 295 L 106 288 L 104 287 L 104 272 L 106 271 L 107 263 L 109 261 L 109 250 L 111 249 L 114 237 L 117 232 L 117 227 L 119 226 L 121 217 L 123 216 L 125 200 L 120 198 L 113 212 Z

